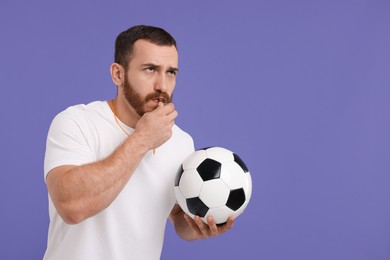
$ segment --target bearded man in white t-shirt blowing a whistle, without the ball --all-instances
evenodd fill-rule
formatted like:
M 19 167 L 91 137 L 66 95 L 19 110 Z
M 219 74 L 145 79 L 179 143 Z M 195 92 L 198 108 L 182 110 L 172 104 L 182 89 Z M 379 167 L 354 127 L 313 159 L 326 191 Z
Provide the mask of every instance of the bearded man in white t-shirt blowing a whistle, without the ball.
M 45 259 L 159 259 L 167 218 L 186 240 L 222 234 L 175 204 L 173 183 L 192 138 L 174 124 L 176 42 L 135 26 L 115 43 L 117 96 L 66 109 L 47 138 L 50 226 Z

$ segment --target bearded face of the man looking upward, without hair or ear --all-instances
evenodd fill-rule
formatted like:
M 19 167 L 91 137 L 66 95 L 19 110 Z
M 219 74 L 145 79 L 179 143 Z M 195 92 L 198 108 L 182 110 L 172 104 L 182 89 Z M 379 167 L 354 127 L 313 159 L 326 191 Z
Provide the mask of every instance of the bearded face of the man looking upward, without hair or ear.
M 134 43 L 123 93 L 139 116 L 154 110 L 159 101 L 171 102 L 177 71 L 175 46 L 158 46 L 145 40 Z

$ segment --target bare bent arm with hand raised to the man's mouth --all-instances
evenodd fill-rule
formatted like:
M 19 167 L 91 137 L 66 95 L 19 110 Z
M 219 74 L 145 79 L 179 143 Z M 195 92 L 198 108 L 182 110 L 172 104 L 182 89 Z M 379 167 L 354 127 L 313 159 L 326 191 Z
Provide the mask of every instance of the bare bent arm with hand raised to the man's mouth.
M 174 106 L 146 113 L 134 133 L 106 159 L 82 166 L 64 165 L 47 177 L 50 197 L 63 220 L 77 224 L 107 208 L 128 182 L 145 153 L 172 135 Z

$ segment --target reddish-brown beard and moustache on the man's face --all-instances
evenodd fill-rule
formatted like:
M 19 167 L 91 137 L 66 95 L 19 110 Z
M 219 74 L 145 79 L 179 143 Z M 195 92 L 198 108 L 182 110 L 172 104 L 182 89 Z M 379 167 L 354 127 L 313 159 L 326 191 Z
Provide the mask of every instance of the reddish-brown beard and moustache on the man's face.
M 125 82 L 123 85 L 123 94 L 126 98 L 126 101 L 132 108 L 134 108 L 135 112 L 137 112 L 139 116 L 143 116 L 146 112 L 148 112 L 145 108 L 145 104 L 151 100 L 159 99 L 163 103 L 170 103 L 172 100 L 172 97 L 170 95 L 168 95 L 166 92 L 162 92 L 159 90 L 153 93 L 149 93 L 148 95 L 146 95 L 146 97 L 143 98 L 139 93 L 135 91 L 134 86 L 129 81 L 127 73 L 125 74 L 124 80 Z

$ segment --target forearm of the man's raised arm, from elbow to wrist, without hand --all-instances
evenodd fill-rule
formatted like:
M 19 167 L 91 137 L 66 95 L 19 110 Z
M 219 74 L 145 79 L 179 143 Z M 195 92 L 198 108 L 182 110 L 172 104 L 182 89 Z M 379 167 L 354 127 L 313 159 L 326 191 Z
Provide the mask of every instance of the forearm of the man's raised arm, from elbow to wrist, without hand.
M 49 193 L 64 221 L 76 224 L 108 207 L 146 152 L 133 135 L 104 160 L 50 172 Z

